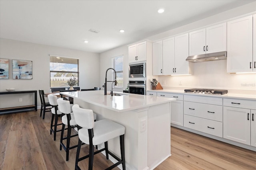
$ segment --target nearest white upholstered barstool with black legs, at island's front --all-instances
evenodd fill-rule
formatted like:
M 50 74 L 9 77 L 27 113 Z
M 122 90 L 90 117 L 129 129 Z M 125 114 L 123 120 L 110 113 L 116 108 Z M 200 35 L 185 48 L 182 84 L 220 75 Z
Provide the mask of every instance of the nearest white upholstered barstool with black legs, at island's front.
M 112 169 L 119 164 L 122 164 L 123 170 L 125 170 L 125 159 L 124 159 L 124 131 L 125 127 L 110 121 L 108 119 L 103 119 L 94 122 L 93 111 L 90 109 L 82 109 L 77 104 L 72 107 L 75 121 L 78 125 L 78 147 L 76 152 L 76 163 L 75 169 L 80 170 L 78 162 L 89 158 L 88 170 L 92 170 L 93 157 L 94 154 L 100 153 L 105 150 L 106 159 L 108 160 L 108 154 L 113 156 L 118 162 L 110 166 L 108 169 Z M 120 138 L 120 150 L 121 150 L 121 159 L 114 155 L 108 150 L 108 141 L 116 137 Z M 86 143 L 89 145 L 89 154 L 79 158 L 79 153 L 81 145 Z M 105 148 L 97 150 L 94 152 L 94 146 L 101 143 L 105 144 Z

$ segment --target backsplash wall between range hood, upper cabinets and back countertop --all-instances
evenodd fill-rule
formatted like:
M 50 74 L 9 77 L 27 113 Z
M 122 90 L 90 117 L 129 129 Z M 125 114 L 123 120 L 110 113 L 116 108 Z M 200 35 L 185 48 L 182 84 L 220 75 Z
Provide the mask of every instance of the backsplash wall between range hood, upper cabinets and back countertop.
M 162 86 L 166 88 L 256 90 L 256 73 L 227 73 L 227 60 L 194 63 L 193 75 L 159 76 L 158 79 Z

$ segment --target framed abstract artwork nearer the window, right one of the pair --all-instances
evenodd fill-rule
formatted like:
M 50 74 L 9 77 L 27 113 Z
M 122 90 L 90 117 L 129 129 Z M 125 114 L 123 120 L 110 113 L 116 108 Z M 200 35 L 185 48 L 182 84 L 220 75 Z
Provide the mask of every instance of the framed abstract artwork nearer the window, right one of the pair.
M 32 61 L 12 60 L 12 79 L 32 79 Z

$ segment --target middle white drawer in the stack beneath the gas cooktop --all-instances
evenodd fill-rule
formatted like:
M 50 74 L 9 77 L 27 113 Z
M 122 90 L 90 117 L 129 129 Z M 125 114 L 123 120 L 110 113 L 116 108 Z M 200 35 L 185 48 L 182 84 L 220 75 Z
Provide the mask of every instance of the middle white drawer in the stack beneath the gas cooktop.
M 222 106 L 185 101 L 184 114 L 222 122 Z

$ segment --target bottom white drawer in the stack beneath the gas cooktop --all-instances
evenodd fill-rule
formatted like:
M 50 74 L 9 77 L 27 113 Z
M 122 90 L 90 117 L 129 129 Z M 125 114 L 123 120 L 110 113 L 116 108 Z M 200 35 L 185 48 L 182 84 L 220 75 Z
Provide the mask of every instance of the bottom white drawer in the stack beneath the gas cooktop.
M 222 122 L 184 115 L 184 127 L 222 137 Z

